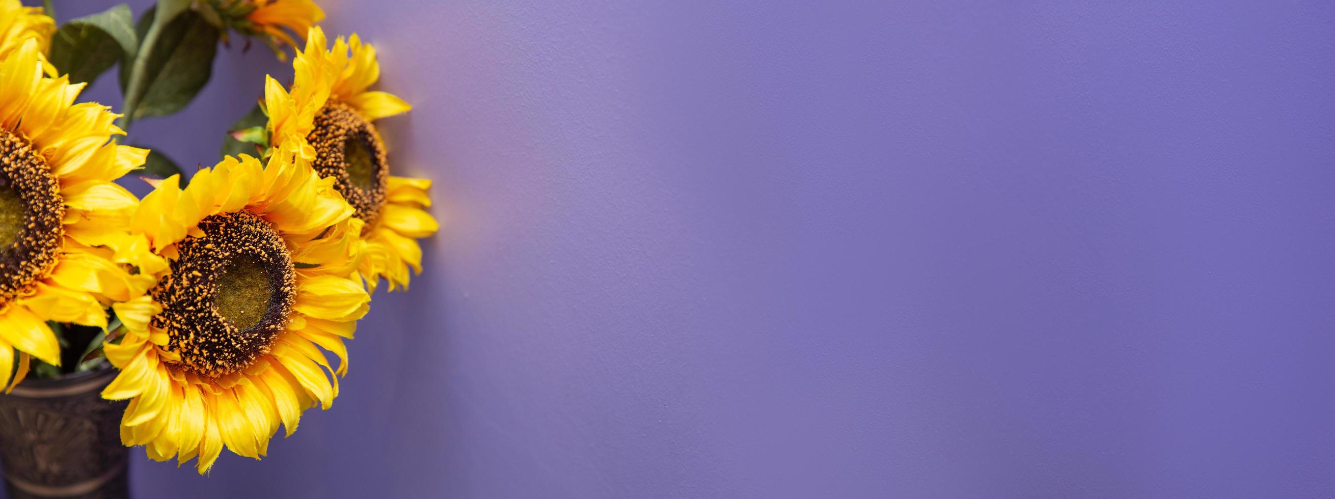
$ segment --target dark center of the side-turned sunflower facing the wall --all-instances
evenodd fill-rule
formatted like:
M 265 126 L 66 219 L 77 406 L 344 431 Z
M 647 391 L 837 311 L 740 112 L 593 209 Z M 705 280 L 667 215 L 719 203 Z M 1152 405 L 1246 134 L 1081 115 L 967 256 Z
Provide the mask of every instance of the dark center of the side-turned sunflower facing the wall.
M 384 204 L 390 173 L 384 163 L 384 144 L 375 125 L 338 101 L 328 101 L 315 116 L 315 129 L 307 137 L 315 147 L 315 171 L 334 177 L 334 185 L 356 216 L 375 220 Z

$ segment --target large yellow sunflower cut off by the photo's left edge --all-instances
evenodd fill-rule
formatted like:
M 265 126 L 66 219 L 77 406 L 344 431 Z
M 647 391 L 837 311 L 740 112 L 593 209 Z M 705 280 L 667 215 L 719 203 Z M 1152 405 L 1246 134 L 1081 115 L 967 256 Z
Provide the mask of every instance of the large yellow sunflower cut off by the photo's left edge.
M 105 327 L 111 300 L 148 286 L 112 263 L 107 247 L 123 240 L 139 201 L 111 180 L 148 151 L 109 143 L 124 133 L 112 124 L 119 115 L 73 104 L 84 85 L 43 76 L 39 47 L 27 39 L 0 60 L 0 387 L 8 388 L 27 375 L 29 356 L 60 364 L 48 320 Z

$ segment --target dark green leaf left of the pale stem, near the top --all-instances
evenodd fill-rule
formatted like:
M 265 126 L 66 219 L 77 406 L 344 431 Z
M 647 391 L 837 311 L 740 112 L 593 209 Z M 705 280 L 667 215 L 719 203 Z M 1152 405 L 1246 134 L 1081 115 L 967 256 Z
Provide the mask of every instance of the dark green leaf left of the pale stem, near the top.
M 51 64 L 69 75 L 71 83 L 97 79 L 139 44 L 135 17 L 120 4 L 107 11 L 69 20 L 51 39 Z

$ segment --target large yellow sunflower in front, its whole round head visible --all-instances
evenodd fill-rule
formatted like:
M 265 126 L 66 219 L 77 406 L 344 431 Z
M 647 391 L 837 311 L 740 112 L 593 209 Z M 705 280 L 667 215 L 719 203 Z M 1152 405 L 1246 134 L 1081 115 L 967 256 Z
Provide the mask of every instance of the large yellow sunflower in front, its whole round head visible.
M 131 399 L 125 446 L 198 456 L 203 474 L 224 446 L 259 459 L 279 424 L 291 435 L 338 396 L 343 339 L 370 302 L 352 278 L 362 221 L 292 151 L 228 156 L 186 188 L 171 176 L 135 211 L 116 258 L 156 286 L 113 306 L 125 332 L 104 347 L 121 372 L 103 398 Z

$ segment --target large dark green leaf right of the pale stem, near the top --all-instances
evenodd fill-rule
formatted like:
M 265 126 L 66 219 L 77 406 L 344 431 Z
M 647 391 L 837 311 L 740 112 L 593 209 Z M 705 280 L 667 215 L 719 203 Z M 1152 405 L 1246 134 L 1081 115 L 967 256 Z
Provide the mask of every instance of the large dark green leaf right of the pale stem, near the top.
M 164 1 L 159 1 L 162 7 Z M 187 1 L 188 5 L 188 1 Z M 150 9 L 139 19 L 140 40 L 156 20 L 156 9 Z M 144 83 L 140 87 L 139 105 L 131 120 L 147 116 L 175 113 L 199 95 L 208 83 L 214 69 L 214 56 L 218 53 L 218 28 L 204 21 L 192 11 L 179 12 L 171 21 L 160 27 L 162 32 L 152 44 L 152 52 L 144 61 Z M 120 88 L 129 91 L 129 72 L 135 56 L 120 64 Z M 125 96 L 127 101 L 129 96 Z

